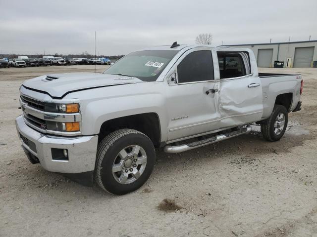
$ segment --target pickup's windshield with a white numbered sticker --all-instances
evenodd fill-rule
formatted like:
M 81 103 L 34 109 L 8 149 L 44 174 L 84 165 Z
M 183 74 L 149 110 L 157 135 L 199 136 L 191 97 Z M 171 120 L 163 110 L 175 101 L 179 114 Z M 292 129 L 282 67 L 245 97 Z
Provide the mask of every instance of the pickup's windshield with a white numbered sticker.
M 147 50 L 130 53 L 108 68 L 104 74 L 123 75 L 156 81 L 177 50 Z

